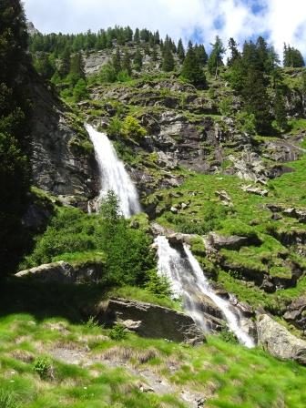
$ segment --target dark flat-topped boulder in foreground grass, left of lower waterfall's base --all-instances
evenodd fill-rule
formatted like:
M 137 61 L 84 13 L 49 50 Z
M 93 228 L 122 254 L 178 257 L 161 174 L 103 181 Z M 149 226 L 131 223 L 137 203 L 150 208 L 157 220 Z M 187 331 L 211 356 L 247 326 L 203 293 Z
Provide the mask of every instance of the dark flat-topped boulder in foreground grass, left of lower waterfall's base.
M 110 299 L 106 306 L 99 308 L 97 318 L 107 325 L 119 321 L 144 337 L 175 342 L 203 342 L 205 339 L 187 314 L 142 301 Z

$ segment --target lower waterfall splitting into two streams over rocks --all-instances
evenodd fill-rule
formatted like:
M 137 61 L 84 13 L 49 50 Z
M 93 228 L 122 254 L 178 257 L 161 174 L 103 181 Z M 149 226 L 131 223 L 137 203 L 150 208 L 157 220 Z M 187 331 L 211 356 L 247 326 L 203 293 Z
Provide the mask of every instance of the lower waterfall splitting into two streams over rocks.
M 230 331 L 233 331 L 238 340 L 247 347 L 253 347 L 254 342 L 250 335 L 240 326 L 239 311 L 232 311 L 229 301 L 220 298 L 209 285 L 198 260 L 192 255 L 189 247 L 184 244 L 184 254 L 170 247 L 166 237 L 158 236 L 155 240 L 158 245 L 158 273 L 166 276 L 171 284 L 175 296 L 181 296 L 184 307 L 193 321 L 203 330 L 208 331 L 205 314 L 199 310 L 200 294 L 204 294 L 213 301 L 225 317 Z

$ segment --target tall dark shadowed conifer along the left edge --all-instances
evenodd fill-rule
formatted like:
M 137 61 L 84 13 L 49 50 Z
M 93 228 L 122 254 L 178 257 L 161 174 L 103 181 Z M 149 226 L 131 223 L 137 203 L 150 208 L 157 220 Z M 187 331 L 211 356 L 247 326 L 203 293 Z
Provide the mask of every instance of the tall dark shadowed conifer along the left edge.
M 19 0 L 0 1 L 0 273 L 15 270 L 25 246 L 29 131 L 26 18 Z

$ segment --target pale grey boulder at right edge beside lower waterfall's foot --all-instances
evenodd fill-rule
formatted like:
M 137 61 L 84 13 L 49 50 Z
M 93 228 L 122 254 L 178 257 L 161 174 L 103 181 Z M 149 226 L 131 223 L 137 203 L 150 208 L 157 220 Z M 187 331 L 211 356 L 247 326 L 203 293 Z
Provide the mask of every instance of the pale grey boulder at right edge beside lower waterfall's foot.
M 293 336 L 267 314 L 257 317 L 258 342 L 264 350 L 282 360 L 306 365 L 306 342 Z

